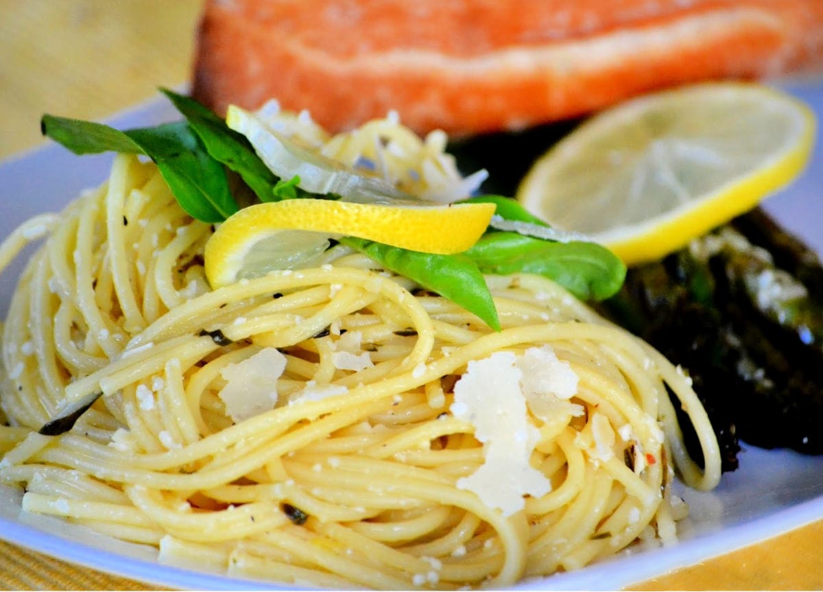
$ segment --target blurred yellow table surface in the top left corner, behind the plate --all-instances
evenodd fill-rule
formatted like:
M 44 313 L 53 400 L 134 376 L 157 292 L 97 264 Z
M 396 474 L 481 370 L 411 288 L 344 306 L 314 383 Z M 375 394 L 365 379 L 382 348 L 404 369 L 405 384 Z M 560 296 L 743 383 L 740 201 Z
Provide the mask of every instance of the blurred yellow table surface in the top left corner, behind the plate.
M 202 0 L 0 0 L 0 158 L 188 81 Z

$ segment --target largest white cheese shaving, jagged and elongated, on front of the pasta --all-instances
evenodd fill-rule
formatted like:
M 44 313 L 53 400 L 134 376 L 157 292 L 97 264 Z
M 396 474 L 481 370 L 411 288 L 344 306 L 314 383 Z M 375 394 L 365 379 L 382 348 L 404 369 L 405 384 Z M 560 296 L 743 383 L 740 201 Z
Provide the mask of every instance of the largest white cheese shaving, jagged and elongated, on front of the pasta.
M 454 385 L 450 407 L 455 417 L 472 423 L 474 436 L 485 445 L 485 462 L 475 473 L 458 479 L 457 486 L 506 516 L 523 509 L 524 495 L 551 491 L 551 482 L 529 464 L 539 432 L 528 421 L 521 380 L 523 371 L 512 352 L 470 361 Z

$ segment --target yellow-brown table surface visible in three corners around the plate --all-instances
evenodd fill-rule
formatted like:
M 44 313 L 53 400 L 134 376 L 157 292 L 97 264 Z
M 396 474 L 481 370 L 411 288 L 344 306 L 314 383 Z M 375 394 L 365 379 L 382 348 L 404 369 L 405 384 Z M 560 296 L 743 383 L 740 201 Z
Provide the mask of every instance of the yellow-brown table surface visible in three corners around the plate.
M 40 115 L 100 119 L 188 80 L 202 0 L 0 0 L 0 158 Z M 5 196 L 3 197 L 5 198 Z M 823 520 L 635 590 L 821 590 Z M 3 590 L 146 590 L 0 543 Z

